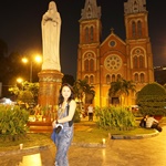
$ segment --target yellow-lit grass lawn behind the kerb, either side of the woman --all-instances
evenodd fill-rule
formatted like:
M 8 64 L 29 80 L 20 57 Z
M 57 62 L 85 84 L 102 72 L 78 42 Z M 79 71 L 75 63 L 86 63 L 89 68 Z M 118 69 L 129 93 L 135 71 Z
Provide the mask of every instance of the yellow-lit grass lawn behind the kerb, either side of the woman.
M 96 126 L 94 122 L 81 122 L 75 123 L 74 129 L 74 143 L 102 143 L 103 138 L 108 138 L 108 133 L 111 134 L 122 134 L 122 135 L 135 135 L 135 134 L 151 134 L 154 133 L 154 129 L 145 128 L 135 128 L 134 131 L 104 131 Z M 0 136 L 0 152 L 3 151 L 13 151 L 19 149 L 19 144 L 23 144 L 24 148 L 33 146 L 44 146 L 51 145 L 50 133 L 40 133 L 40 134 L 27 134 L 24 138 L 19 141 L 3 141 Z

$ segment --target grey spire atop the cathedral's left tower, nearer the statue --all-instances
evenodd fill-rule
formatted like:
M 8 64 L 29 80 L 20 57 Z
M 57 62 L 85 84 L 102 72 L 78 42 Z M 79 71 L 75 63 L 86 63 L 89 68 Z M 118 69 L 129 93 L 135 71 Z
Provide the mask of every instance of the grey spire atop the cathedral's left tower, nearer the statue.
M 101 19 L 101 7 L 97 7 L 96 0 L 85 0 L 81 17 L 81 20 Z

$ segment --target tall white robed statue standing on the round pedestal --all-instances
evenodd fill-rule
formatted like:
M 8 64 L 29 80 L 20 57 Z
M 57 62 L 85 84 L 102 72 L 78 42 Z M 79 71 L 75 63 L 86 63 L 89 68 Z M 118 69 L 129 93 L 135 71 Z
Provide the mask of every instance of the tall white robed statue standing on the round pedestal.
M 49 10 L 43 14 L 42 22 L 42 70 L 61 71 L 60 65 L 60 33 L 61 17 L 54 1 L 49 3 Z

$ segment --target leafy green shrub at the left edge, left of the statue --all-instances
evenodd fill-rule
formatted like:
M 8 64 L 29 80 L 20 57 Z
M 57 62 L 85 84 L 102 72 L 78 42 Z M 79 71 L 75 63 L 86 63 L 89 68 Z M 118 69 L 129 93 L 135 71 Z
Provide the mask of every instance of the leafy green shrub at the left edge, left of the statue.
M 25 135 L 29 113 L 19 106 L 0 105 L 0 135 L 12 141 Z

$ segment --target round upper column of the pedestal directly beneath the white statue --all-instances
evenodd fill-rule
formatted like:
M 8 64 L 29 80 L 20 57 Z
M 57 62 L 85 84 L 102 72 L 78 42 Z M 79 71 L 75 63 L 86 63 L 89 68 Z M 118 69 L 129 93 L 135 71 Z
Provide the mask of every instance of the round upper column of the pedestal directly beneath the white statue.
M 43 70 L 38 73 L 39 95 L 38 103 L 41 106 L 58 105 L 59 92 L 62 85 L 63 74 L 56 70 Z

